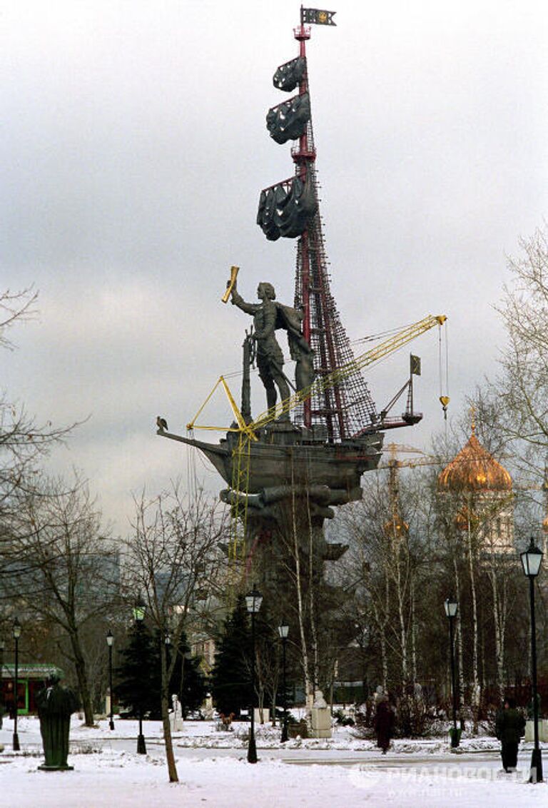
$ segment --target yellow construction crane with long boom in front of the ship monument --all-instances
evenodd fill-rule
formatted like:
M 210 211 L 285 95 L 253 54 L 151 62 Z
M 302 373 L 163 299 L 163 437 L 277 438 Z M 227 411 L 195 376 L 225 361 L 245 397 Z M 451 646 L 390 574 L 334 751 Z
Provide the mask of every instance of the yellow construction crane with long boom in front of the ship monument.
M 242 493 L 244 496 L 236 496 L 234 498 L 234 504 L 232 507 L 233 529 L 230 546 L 231 555 L 233 558 L 236 558 L 238 548 L 244 546 L 242 539 L 245 536 L 247 524 L 247 491 L 249 486 L 251 442 L 259 440 L 256 433 L 268 426 L 269 423 L 279 419 L 281 415 L 285 415 L 291 410 L 294 410 L 295 407 L 305 402 L 306 399 L 311 398 L 314 395 L 319 395 L 327 389 L 336 387 L 336 385 L 338 385 L 341 381 L 344 381 L 344 379 L 351 377 L 364 368 L 371 367 L 371 365 L 377 363 L 381 359 L 384 359 L 384 357 L 389 356 L 391 353 L 394 353 L 394 351 L 398 351 L 399 348 L 424 334 L 434 326 L 441 327 L 445 323 L 446 319 L 445 314 L 428 314 L 427 317 L 419 320 L 419 322 L 406 326 L 402 330 L 399 330 L 395 335 L 392 335 L 390 338 L 381 342 L 376 347 L 371 348 L 369 351 L 365 351 L 365 353 L 361 354 L 360 356 L 356 356 L 356 359 L 344 364 L 341 368 L 337 368 L 336 370 L 327 373 L 325 376 L 318 377 L 311 385 L 298 390 L 297 393 L 293 393 L 293 395 L 289 396 L 289 398 L 285 398 L 284 401 L 281 401 L 276 404 L 276 406 L 266 410 L 259 415 L 258 418 L 252 420 L 251 423 L 246 423 L 246 419 L 243 418 L 242 413 L 238 409 L 238 406 L 234 400 L 234 396 L 230 392 L 229 386 L 226 383 L 226 379 L 221 376 L 217 380 L 217 383 L 213 387 L 211 393 L 209 393 L 208 398 L 206 398 L 204 404 L 200 406 L 200 410 L 198 410 L 192 421 L 187 424 L 187 429 L 189 431 L 194 429 L 206 429 L 238 433 L 238 443 L 233 450 L 231 487 L 234 492 L 237 494 Z M 226 427 L 202 426 L 196 423 L 196 420 L 200 417 L 204 407 L 209 402 L 210 398 L 212 398 L 213 393 L 215 393 L 219 386 L 225 390 L 226 396 L 230 402 L 230 406 L 234 412 L 235 424 L 228 429 Z M 447 399 L 447 402 L 444 403 L 444 407 L 446 407 L 448 402 L 449 399 Z M 379 431 L 382 430 L 381 421 L 378 423 L 377 429 Z

